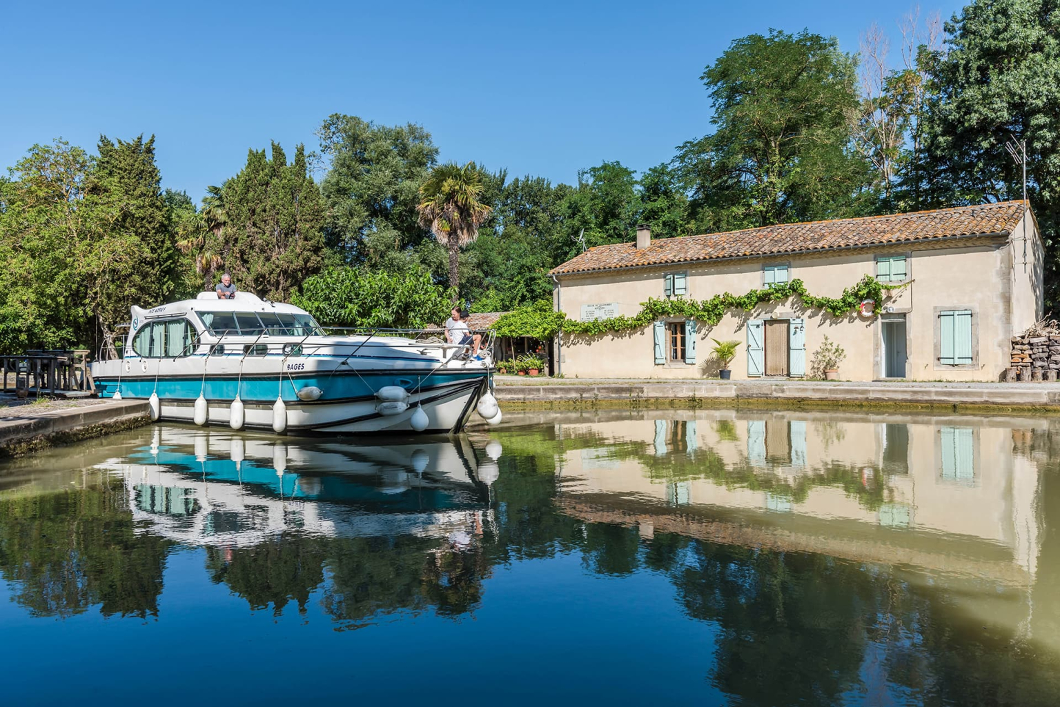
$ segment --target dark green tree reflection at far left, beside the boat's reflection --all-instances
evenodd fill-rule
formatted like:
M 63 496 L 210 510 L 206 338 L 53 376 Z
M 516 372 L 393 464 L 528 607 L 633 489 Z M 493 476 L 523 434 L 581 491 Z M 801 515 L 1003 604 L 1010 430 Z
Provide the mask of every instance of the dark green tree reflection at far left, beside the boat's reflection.
M 157 614 L 169 545 L 135 532 L 118 479 L 0 499 L 0 573 L 37 616 Z

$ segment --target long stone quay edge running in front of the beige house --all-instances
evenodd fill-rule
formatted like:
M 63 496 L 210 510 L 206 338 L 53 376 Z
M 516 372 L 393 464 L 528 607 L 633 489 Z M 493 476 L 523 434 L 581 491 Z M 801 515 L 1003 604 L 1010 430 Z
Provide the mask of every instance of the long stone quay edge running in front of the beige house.
M 498 375 L 495 381 L 498 401 L 528 406 L 671 401 L 694 406 L 765 404 L 1060 412 L 1060 383 L 571 379 L 509 375 Z

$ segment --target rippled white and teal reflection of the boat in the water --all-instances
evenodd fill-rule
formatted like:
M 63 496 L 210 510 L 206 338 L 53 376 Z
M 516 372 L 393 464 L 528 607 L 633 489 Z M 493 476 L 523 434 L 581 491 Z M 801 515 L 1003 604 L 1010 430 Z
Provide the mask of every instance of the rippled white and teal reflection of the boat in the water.
M 98 469 L 126 481 L 132 517 L 190 545 L 324 536 L 447 536 L 485 508 L 465 438 L 354 446 L 157 427 Z

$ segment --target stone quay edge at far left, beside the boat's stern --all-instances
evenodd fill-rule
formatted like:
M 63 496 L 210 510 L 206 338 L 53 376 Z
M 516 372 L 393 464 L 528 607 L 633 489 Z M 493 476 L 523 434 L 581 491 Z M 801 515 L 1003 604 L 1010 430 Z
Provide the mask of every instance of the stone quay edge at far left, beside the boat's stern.
M 0 456 L 19 456 L 149 421 L 145 400 L 100 400 L 65 408 L 37 405 L 5 408 L 0 416 Z

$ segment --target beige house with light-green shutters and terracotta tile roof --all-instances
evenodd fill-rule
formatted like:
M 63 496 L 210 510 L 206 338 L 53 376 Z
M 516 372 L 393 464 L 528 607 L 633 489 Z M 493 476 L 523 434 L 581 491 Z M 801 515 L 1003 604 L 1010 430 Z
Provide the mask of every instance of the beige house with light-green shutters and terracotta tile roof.
M 729 310 L 717 325 L 659 318 L 638 331 L 565 335 L 559 369 L 580 377 L 716 374 L 711 339 L 738 340 L 732 378 L 800 377 L 827 335 L 840 378 L 996 381 L 1011 338 L 1042 316 L 1043 244 L 1023 201 L 781 224 L 597 246 L 552 270 L 572 319 L 634 316 L 650 298 L 707 300 L 801 280 L 840 297 L 871 275 L 903 284 L 864 312 L 834 317 L 800 298 Z

